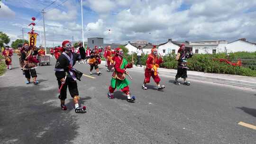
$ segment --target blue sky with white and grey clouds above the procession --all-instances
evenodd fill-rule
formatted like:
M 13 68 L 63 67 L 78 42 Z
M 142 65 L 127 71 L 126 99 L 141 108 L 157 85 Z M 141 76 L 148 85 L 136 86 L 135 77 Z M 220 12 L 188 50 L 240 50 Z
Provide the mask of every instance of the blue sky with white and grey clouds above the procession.
M 82 1 L 84 37 L 104 37 L 106 43 L 242 37 L 256 42 L 256 0 Z M 29 31 L 33 16 L 37 18 L 34 29 L 43 35 L 42 9 L 46 11 L 46 45 L 72 41 L 72 36 L 74 41 L 82 40 L 80 0 L 1 0 L 0 6 L 0 31 L 12 41 L 22 37 L 22 27 Z

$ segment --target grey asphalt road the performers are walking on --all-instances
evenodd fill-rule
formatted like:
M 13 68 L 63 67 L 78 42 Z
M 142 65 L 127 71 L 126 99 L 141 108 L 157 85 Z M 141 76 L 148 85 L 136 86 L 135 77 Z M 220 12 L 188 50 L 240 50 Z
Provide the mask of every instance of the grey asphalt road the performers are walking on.
M 173 84 L 173 76 L 160 75 L 165 91 L 151 81 L 141 90 L 144 73 L 129 70 L 130 91 L 106 94 L 111 72 L 100 66 L 96 79 L 78 81 L 81 104 L 87 113 L 76 114 L 68 94 L 68 110 L 57 99 L 55 60 L 37 68 L 39 84 L 25 84 L 13 57 L 13 69 L 0 76 L 0 144 L 256 144 L 255 90 L 192 80 L 191 86 Z M 89 75 L 89 65 L 75 68 Z

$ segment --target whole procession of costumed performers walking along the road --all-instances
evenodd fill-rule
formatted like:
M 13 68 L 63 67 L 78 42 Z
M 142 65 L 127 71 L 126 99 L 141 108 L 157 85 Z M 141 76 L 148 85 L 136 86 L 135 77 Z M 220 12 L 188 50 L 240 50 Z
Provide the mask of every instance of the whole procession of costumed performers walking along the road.
M 101 64 L 101 55 L 104 56 L 106 60 L 106 66 L 108 67 L 107 72 L 112 71 L 111 81 L 109 86 L 109 91 L 107 93 L 107 97 L 109 99 L 114 99 L 114 91 L 116 89 L 120 89 L 127 96 L 127 101 L 130 103 L 134 103 L 136 98 L 130 94 L 129 84 L 130 81 L 126 78 L 126 75 L 129 76 L 129 72 L 126 70 L 128 68 L 133 68 L 134 61 L 128 63 L 128 61 L 123 57 L 123 50 L 121 48 L 115 48 L 114 51 L 111 49 L 111 46 L 107 46 L 104 49 L 100 46 L 95 46 L 93 49 L 87 47 L 83 48 L 82 43 L 78 44 L 78 49 L 75 51 L 71 42 L 64 41 L 62 46 L 57 46 L 55 48 L 50 49 L 50 53 L 52 56 L 55 56 L 55 76 L 58 81 L 59 88 L 59 96 L 61 102 L 61 109 L 66 110 L 65 99 L 67 98 L 67 88 L 69 89 L 70 95 L 73 98 L 74 109 L 76 113 L 83 113 L 86 110 L 85 106 L 79 105 L 79 92 L 77 88 L 77 80 L 81 81 L 82 72 L 73 68 L 73 66 L 78 63 L 89 63 L 90 64 L 90 74 L 92 74 L 93 68 L 96 70 L 98 75 L 101 75 L 99 71 L 98 65 Z M 139 51 L 142 52 L 141 46 L 138 47 L 138 56 L 140 57 Z M 3 51 L 3 56 L 5 57 L 5 62 L 9 69 L 11 69 L 11 56 L 13 54 L 13 50 L 9 48 L 9 46 L 5 46 Z M 37 49 L 36 46 L 29 46 L 28 44 L 24 44 L 22 47 L 18 49 L 18 56 L 20 59 L 20 67 L 25 75 L 29 84 L 30 78 L 32 77 L 33 82 L 38 84 L 37 81 L 37 63 L 38 54 L 45 54 L 43 48 Z M 185 45 L 180 45 L 178 50 L 178 54 L 176 56 L 176 60 L 178 61 L 178 71 L 175 76 L 174 84 L 180 85 L 178 78 L 183 78 L 184 85 L 190 85 L 190 82 L 187 81 L 187 61 L 186 59 L 192 57 L 192 51 L 186 51 Z M 152 77 L 155 81 L 158 90 L 164 90 L 165 86 L 160 84 L 159 72 L 157 69 L 159 65 L 163 63 L 163 58 L 157 52 L 157 48 L 154 45 L 151 49 L 151 54 L 148 55 L 146 60 L 146 68 L 145 68 L 145 79 L 141 88 L 143 90 L 147 90 L 146 84 L 150 82 L 150 78 Z

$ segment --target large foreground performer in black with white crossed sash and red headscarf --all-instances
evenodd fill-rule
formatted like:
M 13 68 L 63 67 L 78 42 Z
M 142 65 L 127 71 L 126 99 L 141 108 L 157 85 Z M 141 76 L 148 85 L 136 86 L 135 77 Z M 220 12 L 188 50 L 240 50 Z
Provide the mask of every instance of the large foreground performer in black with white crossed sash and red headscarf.
M 65 99 L 67 98 L 67 88 L 73 98 L 75 112 L 83 113 L 85 106 L 79 106 L 79 93 L 76 80 L 80 81 L 82 72 L 74 69 L 76 61 L 81 60 L 80 54 L 71 52 L 72 45 L 69 41 L 62 43 L 64 52 L 59 56 L 55 64 L 55 76 L 59 85 L 59 99 L 61 101 L 62 110 L 66 110 Z

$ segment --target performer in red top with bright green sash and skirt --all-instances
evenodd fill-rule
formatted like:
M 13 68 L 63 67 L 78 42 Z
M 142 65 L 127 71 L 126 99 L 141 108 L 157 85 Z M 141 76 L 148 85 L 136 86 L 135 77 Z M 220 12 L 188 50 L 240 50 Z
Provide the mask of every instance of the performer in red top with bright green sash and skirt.
M 125 78 L 125 74 L 129 74 L 126 71 L 127 68 L 132 68 L 132 63 L 128 63 L 125 58 L 123 58 L 123 50 L 121 48 L 116 48 L 116 54 L 112 58 L 114 61 L 114 72 L 112 74 L 111 85 L 109 87 L 108 98 L 114 99 L 113 92 L 115 89 L 121 89 L 127 95 L 128 102 L 135 102 L 135 97 L 130 96 L 129 92 L 129 81 Z

